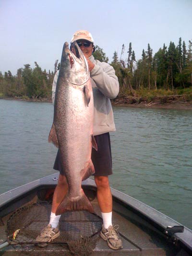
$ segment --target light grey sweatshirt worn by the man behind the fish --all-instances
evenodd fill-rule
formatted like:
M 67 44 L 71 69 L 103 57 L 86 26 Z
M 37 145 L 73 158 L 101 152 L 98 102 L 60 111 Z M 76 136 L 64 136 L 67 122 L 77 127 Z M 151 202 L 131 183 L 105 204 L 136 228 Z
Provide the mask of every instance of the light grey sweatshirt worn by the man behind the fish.
M 90 72 L 91 84 L 94 96 L 94 135 L 115 131 L 113 110 L 110 98 L 116 98 L 119 93 L 119 82 L 115 70 L 106 62 L 95 60 L 93 55 L 89 57 L 95 67 Z M 52 86 L 52 102 L 55 100 L 55 90 L 59 71 L 54 76 Z

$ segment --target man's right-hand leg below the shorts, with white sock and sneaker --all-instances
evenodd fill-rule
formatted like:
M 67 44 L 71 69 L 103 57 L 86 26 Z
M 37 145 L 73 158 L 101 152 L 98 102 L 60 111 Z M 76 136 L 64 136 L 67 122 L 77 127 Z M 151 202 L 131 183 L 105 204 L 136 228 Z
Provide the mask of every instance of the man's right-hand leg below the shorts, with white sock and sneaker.
M 109 186 L 108 176 L 95 176 L 97 186 L 97 200 L 103 218 L 101 237 L 107 241 L 111 249 L 121 249 L 122 241 L 115 226 L 112 225 L 112 195 Z

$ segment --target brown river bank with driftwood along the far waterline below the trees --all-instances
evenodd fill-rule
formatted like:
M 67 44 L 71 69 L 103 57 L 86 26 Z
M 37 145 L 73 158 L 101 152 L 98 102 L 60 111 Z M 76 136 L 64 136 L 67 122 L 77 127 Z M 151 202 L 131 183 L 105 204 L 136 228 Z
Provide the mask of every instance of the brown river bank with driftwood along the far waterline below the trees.
M 19 100 L 31 102 L 46 102 L 52 103 L 48 98 L 41 99 L 22 99 L 22 98 L 0 98 L 6 100 Z M 113 106 L 132 107 L 132 108 L 156 108 L 156 109 L 175 109 L 175 110 L 192 110 L 192 100 L 184 100 L 181 98 L 156 98 L 150 102 L 146 100 L 135 100 L 131 97 L 117 98 L 111 101 Z

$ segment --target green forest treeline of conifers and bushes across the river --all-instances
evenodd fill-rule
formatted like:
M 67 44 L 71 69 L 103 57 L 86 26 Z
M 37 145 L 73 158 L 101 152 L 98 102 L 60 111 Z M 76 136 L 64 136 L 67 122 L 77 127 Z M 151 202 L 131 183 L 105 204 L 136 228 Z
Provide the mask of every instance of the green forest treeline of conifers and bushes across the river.
M 179 38 L 178 45 L 170 42 L 163 45 L 154 55 L 148 44 L 138 61 L 132 43 L 128 50 L 123 44 L 120 57 L 114 52 L 110 63 L 120 82 L 119 97 L 139 97 L 149 92 L 162 94 L 188 94 L 192 99 L 192 41 L 189 40 L 188 49 L 185 41 Z M 125 59 L 123 59 L 125 56 Z M 105 52 L 96 46 L 94 57 L 99 61 L 108 62 Z M 16 75 L 11 71 L 0 72 L 0 96 L 16 98 L 50 99 L 51 88 L 55 72 L 59 69 L 58 60 L 54 64 L 54 71 L 42 70 L 35 62 L 35 68 L 24 64 L 17 70 Z

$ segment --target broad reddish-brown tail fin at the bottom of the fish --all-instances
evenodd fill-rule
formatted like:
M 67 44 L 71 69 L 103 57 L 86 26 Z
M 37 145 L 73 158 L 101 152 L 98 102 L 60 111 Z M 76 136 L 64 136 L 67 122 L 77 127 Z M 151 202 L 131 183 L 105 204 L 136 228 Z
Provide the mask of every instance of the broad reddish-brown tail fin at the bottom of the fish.
M 66 211 L 89 211 L 94 213 L 94 209 L 92 204 L 90 203 L 89 199 L 84 194 L 82 189 L 81 196 L 74 199 L 67 194 L 63 201 L 60 203 L 59 207 L 57 207 L 56 215 L 60 215 Z

